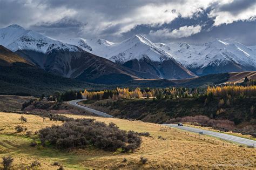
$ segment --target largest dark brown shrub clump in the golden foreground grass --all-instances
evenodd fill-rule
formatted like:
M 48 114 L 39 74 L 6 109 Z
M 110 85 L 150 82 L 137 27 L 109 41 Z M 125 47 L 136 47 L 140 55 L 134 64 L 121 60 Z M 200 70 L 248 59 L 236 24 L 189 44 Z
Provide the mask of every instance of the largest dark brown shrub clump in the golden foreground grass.
M 142 139 L 133 131 L 120 130 L 116 124 L 95 121 L 95 119 L 75 119 L 61 126 L 53 125 L 39 131 L 42 145 L 53 145 L 59 149 L 93 145 L 105 151 L 133 152 Z

